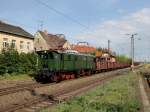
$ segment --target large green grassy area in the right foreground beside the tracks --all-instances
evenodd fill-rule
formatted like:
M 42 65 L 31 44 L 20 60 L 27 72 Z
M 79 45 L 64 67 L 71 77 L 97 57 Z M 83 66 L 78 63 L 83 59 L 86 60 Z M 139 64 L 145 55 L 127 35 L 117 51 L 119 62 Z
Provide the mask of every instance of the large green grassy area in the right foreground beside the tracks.
M 139 112 L 137 75 L 120 76 L 41 112 Z

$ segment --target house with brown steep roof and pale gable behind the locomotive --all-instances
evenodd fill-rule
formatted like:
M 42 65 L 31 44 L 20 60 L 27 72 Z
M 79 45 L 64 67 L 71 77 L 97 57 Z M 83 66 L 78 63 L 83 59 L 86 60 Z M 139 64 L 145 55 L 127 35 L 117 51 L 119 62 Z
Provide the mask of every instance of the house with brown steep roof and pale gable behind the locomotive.
M 35 34 L 34 49 L 40 50 L 67 50 L 71 49 L 70 43 L 63 34 L 49 34 L 45 31 L 38 31 Z

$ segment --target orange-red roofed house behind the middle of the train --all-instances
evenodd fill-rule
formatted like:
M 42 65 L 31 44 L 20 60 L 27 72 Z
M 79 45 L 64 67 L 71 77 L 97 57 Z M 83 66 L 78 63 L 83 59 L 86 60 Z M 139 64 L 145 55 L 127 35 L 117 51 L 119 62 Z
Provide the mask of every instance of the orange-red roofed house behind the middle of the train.
M 85 43 L 85 42 L 84 42 Z M 96 52 L 96 48 L 89 46 L 88 43 L 83 44 L 83 42 L 78 43 L 77 45 L 72 46 L 73 50 L 76 50 L 80 53 L 85 53 L 85 54 L 93 54 Z

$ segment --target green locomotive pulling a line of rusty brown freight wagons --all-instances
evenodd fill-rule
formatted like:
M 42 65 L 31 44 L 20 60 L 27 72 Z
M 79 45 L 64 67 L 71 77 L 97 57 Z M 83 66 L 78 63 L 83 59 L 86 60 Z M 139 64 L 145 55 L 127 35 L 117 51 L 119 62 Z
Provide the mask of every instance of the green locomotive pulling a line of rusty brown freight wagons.
M 59 82 L 102 71 L 129 67 L 129 63 L 104 61 L 101 57 L 76 52 L 39 51 L 38 82 Z

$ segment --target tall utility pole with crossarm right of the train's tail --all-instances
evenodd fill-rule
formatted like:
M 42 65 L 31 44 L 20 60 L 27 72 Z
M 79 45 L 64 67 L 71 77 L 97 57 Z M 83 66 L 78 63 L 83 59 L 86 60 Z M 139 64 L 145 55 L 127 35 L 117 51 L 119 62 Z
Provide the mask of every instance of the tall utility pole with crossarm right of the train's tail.
M 134 69 L 134 36 L 137 35 L 137 33 L 135 34 L 127 34 L 130 36 L 131 38 L 131 59 L 132 59 L 132 64 L 131 64 L 131 69 L 133 70 Z

